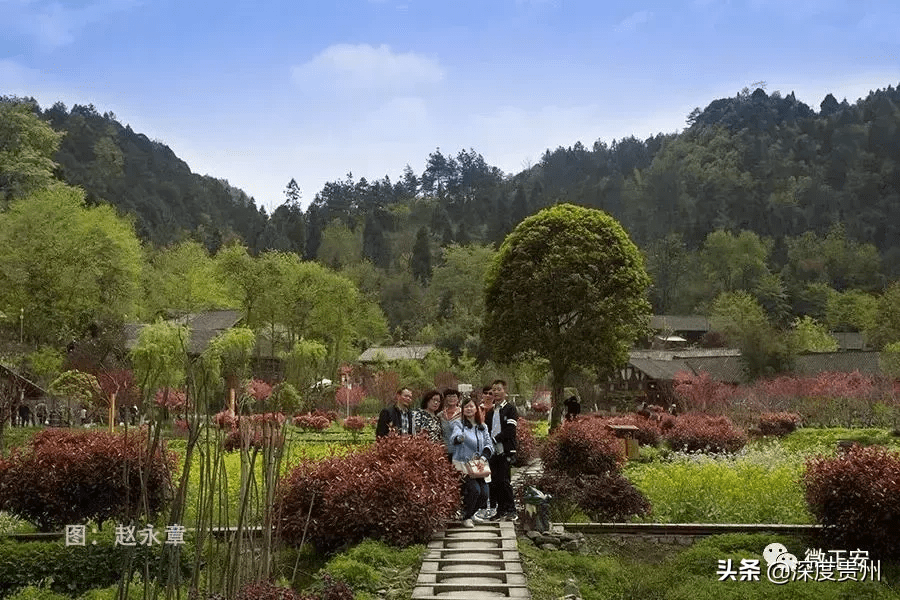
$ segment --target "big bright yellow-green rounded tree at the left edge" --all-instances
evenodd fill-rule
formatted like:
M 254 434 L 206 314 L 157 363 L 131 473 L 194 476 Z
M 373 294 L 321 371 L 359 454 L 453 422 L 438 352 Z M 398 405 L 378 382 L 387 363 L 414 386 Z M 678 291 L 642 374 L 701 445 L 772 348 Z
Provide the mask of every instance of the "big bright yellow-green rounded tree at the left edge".
M 0 306 L 24 309 L 35 342 L 134 315 L 142 263 L 131 223 L 111 206 L 86 207 L 80 190 L 54 185 L 0 213 Z

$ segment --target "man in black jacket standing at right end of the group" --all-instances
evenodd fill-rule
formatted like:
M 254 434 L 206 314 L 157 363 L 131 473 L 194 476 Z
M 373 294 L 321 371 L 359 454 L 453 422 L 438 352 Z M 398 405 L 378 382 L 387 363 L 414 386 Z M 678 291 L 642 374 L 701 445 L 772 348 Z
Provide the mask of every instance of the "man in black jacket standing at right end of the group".
M 497 502 L 497 514 L 491 518 L 515 521 L 516 500 L 512 490 L 511 467 L 516 461 L 516 426 L 519 422 L 519 413 L 516 407 L 506 400 L 506 382 L 502 379 L 497 379 L 491 385 L 491 395 L 494 407 L 485 415 L 485 422 L 494 440 L 494 454 L 488 463 L 491 466 L 491 501 Z

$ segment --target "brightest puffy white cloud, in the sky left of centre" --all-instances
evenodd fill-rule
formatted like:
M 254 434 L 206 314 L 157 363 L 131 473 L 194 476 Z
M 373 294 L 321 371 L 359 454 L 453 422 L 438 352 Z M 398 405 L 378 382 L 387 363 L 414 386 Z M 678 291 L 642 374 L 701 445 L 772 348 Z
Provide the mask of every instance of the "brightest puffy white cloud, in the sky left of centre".
M 398 95 L 440 83 L 437 61 L 414 52 L 398 53 L 385 44 L 335 44 L 291 69 L 298 85 L 352 90 L 391 90 Z

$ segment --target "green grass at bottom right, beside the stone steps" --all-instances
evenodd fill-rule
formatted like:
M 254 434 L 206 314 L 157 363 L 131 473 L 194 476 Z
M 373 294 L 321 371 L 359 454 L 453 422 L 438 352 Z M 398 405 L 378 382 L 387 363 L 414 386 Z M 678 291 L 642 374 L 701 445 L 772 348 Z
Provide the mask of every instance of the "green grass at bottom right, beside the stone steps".
M 584 600 L 838 600 L 900 598 L 900 565 L 882 565 L 881 582 L 719 581 L 718 561 L 755 559 L 765 565 L 762 551 L 780 542 L 801 559 L 809 546 L 803 540 L 765 534 L 729 534 L 699 540 L 689 548 L 635 540 L 612 542 L 589 537 L 584 553 L 540 550 L 519 542 L 522 566 L 534 600 L 556 600 L 568 593 L 567 579 Z M 571 583 L 569 584 L 572 585 Z

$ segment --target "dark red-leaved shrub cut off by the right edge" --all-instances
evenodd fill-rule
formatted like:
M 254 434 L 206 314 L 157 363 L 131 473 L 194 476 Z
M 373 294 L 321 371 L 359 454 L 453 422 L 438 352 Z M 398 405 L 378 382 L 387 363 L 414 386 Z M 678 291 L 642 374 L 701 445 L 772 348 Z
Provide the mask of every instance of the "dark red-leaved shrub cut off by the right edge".
M 832 547 L 900 558 L 900 454 L 857 446 L 836 457 L 811 458 L 803 485 L 809 511 Z

